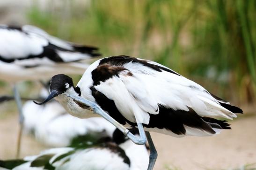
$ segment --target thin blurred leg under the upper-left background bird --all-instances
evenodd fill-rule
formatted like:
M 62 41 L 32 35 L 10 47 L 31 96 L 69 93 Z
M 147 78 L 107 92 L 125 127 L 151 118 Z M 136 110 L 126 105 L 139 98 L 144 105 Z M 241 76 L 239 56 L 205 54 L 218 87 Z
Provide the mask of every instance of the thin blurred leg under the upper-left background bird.
M 17 103 L 17 107 L 19 110 L 19 123 L 20 123 L 20 129 L 19 129 L 19 134 L 18 134 L 18 141 L 17 141 L 17 153 L 16 153 L 16 158 L 19 157 L 20 155 L 20 149 L 21 149 L 21 140 L 22 140 L 22 129 L 23 129 L 23 122 L 24 122 L 24 116 L 22 113 L 22 101 L 20 94 L 18 92 L 18 89 L 16 85 L 14 85 L 14 97 L 15 97 L 15 102 Z

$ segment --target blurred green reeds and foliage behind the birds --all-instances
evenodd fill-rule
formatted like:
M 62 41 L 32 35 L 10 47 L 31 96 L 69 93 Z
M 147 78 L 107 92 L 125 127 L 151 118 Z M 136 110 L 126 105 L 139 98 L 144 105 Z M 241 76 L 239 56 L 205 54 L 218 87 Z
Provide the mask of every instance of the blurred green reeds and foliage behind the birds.
M 82 0 L 81 0 L 82 1 Z M 256 0 L 63 0 L 30 24 L 103 56 L 158 61 L 238 103 L 255 102 Z

